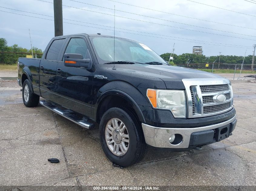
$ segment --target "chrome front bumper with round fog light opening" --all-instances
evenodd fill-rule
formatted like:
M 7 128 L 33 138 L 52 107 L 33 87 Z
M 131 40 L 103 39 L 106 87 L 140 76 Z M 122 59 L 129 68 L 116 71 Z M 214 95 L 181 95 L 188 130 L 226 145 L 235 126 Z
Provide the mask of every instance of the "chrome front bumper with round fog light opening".
M 197 146 L 195 144 L 191 146 L 190 142 L 197 142 L 199 143 L 198 145 L 207 145 L 219 141 L 214 138 L 214 135 L 211 134 L 211 132 L 207 132 L 207 130 L 214 130 L 214 132 L 216 132 L 218 128 L 230 125 L 228 132 L 229 136 L 229 134 L 234 130 L 236 126 L 236 121 L 236 116 L 233 116 L 231 119 L 228 119 L 221 123 L 196 128 L 162 128 L 142 123 L 142 129 L 144 132 L 145 141 L 148 145 L 157 148 L 185 149 Z M 193 135 L 191 136 L 192 133 Z M 169 142 L 169 138 L 173 134 L 181 135 L 180 137 L 176 136 L 180 138 L 178 144 L 175 143 L 174 145 Z M 209 141 L 210 139 L 211 141 Z M 223 138 L 221 138 L 221 140 L 222 139 Z

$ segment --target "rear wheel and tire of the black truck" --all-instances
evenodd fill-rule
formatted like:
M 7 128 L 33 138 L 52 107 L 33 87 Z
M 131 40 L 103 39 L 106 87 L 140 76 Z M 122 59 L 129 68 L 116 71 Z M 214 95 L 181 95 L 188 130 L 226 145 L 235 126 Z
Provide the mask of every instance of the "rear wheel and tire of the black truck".
M 36 107 L 39 103 L 39 96 L 33 94 L 32 87 L 28 79 L 22 85 L 22 99 L 26 107 Z

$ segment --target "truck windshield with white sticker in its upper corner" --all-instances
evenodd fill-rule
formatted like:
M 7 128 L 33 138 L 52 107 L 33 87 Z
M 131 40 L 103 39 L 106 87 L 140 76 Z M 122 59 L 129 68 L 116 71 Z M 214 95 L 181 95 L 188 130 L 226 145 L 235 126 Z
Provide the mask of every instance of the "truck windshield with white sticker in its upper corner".
M 113 37 L 91 37 L 99 64 L 114 61 L 114 38 Z M 161 62 L 166 63 L 157 53 L 145 44 L 115 38 L 115 62 L 130 61 L 138 63 Z

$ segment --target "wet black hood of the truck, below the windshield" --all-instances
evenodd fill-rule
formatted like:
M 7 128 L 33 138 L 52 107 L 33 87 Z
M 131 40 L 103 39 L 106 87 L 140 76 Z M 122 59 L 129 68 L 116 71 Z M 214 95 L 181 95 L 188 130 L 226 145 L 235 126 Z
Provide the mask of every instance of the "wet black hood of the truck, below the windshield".
M 160 78 L 165 82 L 166 88 L 173 88 L 174 83 L 179 84 L 182 83 L 182 79 L 190 79 L 190 78 L 222 78 L 219 75 L 212 74 L 209 72 L 204 72 L 200 70 L 195 70 L 191 68 L 183 68 L 178 66 L 170 66 L 170 65 L 148 65 L 148 64 L 128 64 L 128 65 L 115 65 L 117 70 L 121 70 L 123 72 L 128 72 L 130 74 L 142 74 L 148 75 L 152 77 Z M 177 85 L 178 85 L 177 84 Z

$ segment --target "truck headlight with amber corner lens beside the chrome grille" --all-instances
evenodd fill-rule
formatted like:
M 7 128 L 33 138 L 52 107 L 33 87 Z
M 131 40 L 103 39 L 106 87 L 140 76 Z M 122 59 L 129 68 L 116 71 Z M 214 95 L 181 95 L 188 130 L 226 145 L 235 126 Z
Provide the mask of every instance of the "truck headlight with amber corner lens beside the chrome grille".
M 154 108 L 170 110 L 174 117 L 186 117 L 186 100 L 183 90 L 147 90 L 147 97 Z

